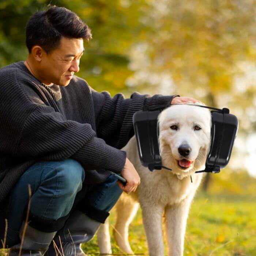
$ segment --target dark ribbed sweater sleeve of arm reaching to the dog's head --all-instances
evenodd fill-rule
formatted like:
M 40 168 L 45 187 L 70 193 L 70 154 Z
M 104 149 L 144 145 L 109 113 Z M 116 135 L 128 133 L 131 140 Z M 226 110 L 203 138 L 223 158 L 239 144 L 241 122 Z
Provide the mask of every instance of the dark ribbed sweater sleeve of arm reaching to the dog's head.
M 99 138 L 116 148 L 122 148 L 134 135 L 132 117 L 142 110 L 143 105 L 170 105 L 176 95 L 163 96 L 156 94 L 152 97 L 133 93 L 125 99 L 123 94 L 110 97 L 106 91 L 98 93 L 92 90 L 96 129 Z

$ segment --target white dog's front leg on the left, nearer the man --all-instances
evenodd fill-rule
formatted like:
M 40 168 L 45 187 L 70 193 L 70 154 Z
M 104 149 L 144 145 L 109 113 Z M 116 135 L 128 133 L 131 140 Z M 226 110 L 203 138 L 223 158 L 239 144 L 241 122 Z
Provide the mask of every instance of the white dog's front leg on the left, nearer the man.
M 150 199 L 149 199 L 150 200 Z M 163 256 L 162 215 L 163 207 L 152 203 L 142 204 L 144 229 L 150 256 Z

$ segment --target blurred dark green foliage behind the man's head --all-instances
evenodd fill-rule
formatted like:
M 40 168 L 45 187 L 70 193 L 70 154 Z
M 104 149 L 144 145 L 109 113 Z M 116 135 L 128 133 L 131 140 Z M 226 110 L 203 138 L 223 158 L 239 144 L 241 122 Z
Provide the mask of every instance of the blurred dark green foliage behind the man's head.
M 124 81 L 132 74 L 128 50 L 138 41 L 140 31 L 146 31 L 146 26 L 139 22 L 143 6 L 147 5 L 141 0 L 1 0 L 0 67 L 25 60 L 27 20 L 49 3 L 76 12 L 92 29 L 93 40 L 85 45 L 78 75 L 96 90 L 107 89 L 112 94 L 124 90 Z

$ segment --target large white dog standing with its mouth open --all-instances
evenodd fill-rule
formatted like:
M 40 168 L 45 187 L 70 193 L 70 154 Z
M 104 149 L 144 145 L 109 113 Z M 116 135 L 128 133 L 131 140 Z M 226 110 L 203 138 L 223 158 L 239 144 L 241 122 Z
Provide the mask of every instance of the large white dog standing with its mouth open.
M 198 106 L 173 105 L 163 110 L 158 121 L 162 165 L 172 171 L 150 172 L 143 167 L 135 136 L 129 140 L 123 150 L 138 171 L 141 183 L 135 193 L 123 193 L 116 204 L 114 238 L 122 251 L 133 253 L 128 242 L 128 226 L 140 204 L 150 255 L 164 255 L 164 215 L 169 255 L 180 256 L 189 207 L 202 180 L 202 173 L 195 171 L 204 169 L 210 148 L 211 114 Z M 101 253 L 111 253 L 108 222 L 98 231 L 98 244 Z

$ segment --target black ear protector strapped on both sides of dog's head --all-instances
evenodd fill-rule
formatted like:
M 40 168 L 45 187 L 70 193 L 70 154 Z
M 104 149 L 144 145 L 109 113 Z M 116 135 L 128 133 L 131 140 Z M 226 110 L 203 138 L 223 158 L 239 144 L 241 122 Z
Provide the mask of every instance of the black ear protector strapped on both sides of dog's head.
M 217 109 L 208 106 L 186 104 L 212 109 L 211 146 L 206 159 L 206 168 L 199 172 L 219 173 L 229 162 L 234 140 L 238 130 L 237 117 L 229 113 L 229 109 Z M 150 171 L 161 170 L 161 155 L 158 142 L 158 115 L 163 109 L 172 105 L 143 106 L 142 111 L 133 114 L 133 126 L 139 151 L 140 162 Z

